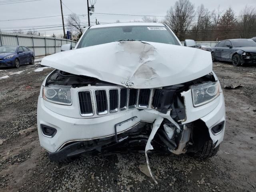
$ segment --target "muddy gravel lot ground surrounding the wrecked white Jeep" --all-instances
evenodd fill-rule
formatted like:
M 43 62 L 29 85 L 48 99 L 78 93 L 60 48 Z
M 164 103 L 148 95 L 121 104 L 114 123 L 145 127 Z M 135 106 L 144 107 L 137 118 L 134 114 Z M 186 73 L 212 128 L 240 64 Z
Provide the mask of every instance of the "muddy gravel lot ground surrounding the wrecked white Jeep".
M 42 81 L 52 69 L 35 69 L 36 65 L 0 70 L 0 191 L 256 191 L 255 66 L 214 63 L 226 101 L 220 151 L 204 161 L 186 155 L 150 155 L 158 185 L 138 168 L 146 162 L 144 154 L 50 162 L 38 141 L 36 104 Z M 224 89 L 232 84 L 244 86 Z

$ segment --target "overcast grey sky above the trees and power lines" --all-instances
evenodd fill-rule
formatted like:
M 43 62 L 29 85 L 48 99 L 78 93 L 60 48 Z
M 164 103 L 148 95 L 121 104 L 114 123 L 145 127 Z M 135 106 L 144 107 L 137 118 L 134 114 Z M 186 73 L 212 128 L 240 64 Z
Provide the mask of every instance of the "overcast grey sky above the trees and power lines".
M 13 29 L 30 29 L 58 26 L 55 28 L 36 29 L 41 34 L 46 32 L 46 35 L 62 34 L 61 27 L 62 19 L 60 11 L 60 0 L 23 0 L 31 2 L 21 2 L 22 0 L 0 0 L 0 29 L 2 31 Z M 95 13 L 92 14 L 91 24 L 95 24 L 95 19 L 99 22 L 129 22 L 133 20 L 141 20 L 142 16 L 117 16 L 117 15 L 103 15 L 97 13 L 111 13 L 111 14 L 133 14 L 133 15 L 154 15 L 159 21 L 164 19 L 166 11 L 174 5 L 176 0 L 97 0 L 95 6 Z M 13 4 L 6 4 L 13 2 Z M 229 6 L 239 15 L 240 10 L 246 5 L 249 7 L 256 7 L 256 0 L 190 0 L 195 7 L 204 4 L 209 10 L 217 9 L 220 5 L 221 10 L 225 10 Z M 81 22 L 87 24 L 87 2 L 86 0 L 63 0 L 66 6 L 63 6 L 63 14 L 68 15 L 72 12 L 76 14 L 85 14 L 80 16 Z M 50 18 L 38 18 L 28 20 L 15 20 L 34 17 L 56 16 Z M 67 18 L 68 16 L 64 16 Z M 13 20 L 13 21 L 1 21 Z M 64 19 L 65 20 L 65 19 Z M 27 30 L 25 30 L 27 31 Z

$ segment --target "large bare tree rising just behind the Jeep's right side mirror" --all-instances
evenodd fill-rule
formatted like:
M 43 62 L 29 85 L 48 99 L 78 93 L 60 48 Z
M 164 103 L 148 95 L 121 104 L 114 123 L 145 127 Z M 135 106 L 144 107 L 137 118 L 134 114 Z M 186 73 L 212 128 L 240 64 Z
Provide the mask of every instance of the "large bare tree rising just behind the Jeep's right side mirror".
M 194 5 L 189 0 L 178 0 L 166 14 L 165 23 L 176 33 L 180 40 L 190 29 L 194 18 Z

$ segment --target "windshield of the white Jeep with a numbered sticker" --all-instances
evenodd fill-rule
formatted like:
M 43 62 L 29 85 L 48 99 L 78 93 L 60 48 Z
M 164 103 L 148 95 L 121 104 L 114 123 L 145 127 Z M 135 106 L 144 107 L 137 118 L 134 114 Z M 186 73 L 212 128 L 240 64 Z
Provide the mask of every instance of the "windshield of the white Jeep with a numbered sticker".
M 118 26 L 88 29 L 77 48 L 126 40 L 180 45 L 165 26 Z

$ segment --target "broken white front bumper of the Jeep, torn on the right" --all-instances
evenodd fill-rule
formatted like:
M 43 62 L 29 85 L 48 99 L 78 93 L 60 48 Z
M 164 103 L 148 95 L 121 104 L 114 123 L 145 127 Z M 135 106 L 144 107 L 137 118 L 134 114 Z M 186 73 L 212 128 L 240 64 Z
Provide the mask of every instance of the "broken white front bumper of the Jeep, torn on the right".
M 218 146 L 223 140 L 224 128 L 222 132 L 217 135 L 212 134 L 211 128 L 225 121 L 223 94 L 221 93 L 214 101 L 197 108 L 190 106 L 192 100 L 190 92 L 184 93 L 183 97 L 187 119 L 182 124 L 201 119 L 208 127 L 211 139 L 213 142 L 217 142 L 216 146 Z M 115 136 L 114 125 L 132 117 L 136 118 L 122 124 L 122 126 L 118 126 L 116 130 L 118 135 L 127 132 L 140 122 L 153 123 L 156 118 L 159 117 L 159 114 L 155 113 L 155 110 L 152 109 L 134 109 L 97 118 L 70 118 L 49 110 L 44 106 L 43 98 L 38 98 L 38 135 L 41 146 L 48 152 L 57 152 L 70 142 L 88 141 Z M 55 128 L 57 130 L 55 136 L 52 138 L 44 136 L 40 127 L 41 124 Z

